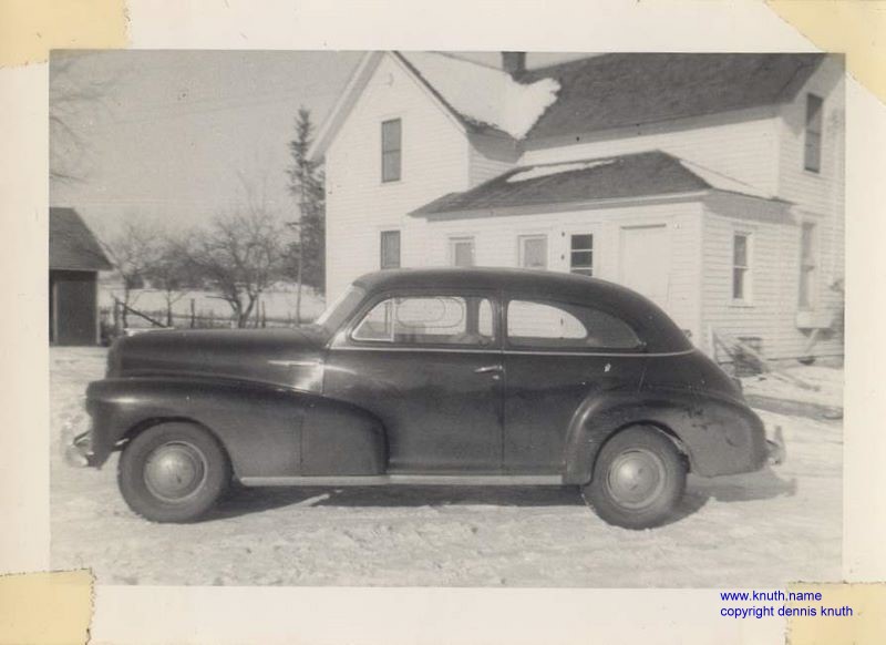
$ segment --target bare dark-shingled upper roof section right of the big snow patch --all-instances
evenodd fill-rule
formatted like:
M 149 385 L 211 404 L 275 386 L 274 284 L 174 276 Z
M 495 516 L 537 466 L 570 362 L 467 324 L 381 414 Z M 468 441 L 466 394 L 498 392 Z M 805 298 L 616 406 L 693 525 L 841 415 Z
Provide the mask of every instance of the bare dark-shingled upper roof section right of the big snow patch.
M 528 132 L 537 140 L 702 116 L 792 100 L 822 53 L 610 53 L 530 70 L 557 101 Z

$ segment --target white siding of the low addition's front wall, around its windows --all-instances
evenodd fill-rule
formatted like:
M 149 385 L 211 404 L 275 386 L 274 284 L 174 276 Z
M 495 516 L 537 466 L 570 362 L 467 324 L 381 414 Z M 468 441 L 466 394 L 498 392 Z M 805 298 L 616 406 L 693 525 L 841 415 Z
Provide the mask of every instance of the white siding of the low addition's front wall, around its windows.
M 432 222 L 427 225 L 426 265 L 451 264 L 450 239 L 473 237 L 477 266 L 518 266 L 518 238 L 544 234 L 548 239 L 548 269 L 567 272 L 568 234 L 594 234 L 595 276 L 620 281 L 619 247 L 622 227 L 663 224 L 670 237 L 668 298 L 661 303 L 681 328 L 700 334 L 701 205 L 698 202 L 534 213 Z M 649 258 L 656 262 L 656 258 Z

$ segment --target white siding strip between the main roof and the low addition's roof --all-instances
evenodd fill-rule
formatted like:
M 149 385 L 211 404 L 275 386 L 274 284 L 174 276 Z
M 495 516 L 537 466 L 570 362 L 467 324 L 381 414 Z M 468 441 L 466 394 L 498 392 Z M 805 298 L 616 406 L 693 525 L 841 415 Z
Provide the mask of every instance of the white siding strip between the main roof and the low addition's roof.
M 558 163 L 661 150 L 774 193 L 779 120 L 772 109 L 746 110 L 667 124 L 611 130 L 527 150 L 521 164 Z

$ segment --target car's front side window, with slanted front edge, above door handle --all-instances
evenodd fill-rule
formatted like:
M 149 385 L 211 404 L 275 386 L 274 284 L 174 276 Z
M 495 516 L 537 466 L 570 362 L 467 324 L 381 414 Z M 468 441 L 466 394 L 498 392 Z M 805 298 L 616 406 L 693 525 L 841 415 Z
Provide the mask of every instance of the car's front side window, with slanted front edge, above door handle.
M 395 345 L 486 346 L 494 340 L 493 307 L 478 296 L 400 296 L 378 303 L 351 335 Z

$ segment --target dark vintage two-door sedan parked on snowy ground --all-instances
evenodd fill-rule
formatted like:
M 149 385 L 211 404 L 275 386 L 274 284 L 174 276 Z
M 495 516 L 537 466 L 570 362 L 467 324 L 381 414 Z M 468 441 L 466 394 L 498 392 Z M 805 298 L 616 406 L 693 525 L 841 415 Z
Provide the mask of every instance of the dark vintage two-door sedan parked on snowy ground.
M 69 459 L 122 450 L 156 522 L 243 485 L 575 485 L 630 529 L 674 513 L 687 472 L 779 459 L 727 376 L 655 304 L 579 275 L 395 269 L 316 324 L 117 340 Z

